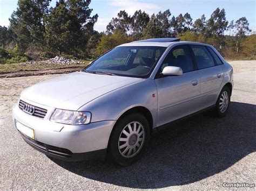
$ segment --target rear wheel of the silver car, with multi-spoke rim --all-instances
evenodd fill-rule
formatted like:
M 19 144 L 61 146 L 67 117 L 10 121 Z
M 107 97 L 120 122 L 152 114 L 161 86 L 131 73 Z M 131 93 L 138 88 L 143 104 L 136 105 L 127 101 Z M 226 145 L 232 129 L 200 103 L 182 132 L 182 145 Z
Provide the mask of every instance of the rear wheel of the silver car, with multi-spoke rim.
M 218 100 L 215 104 L 215 115 L 217 117 L 226 116 L 228 108 L 230 107 L 230 96 L 230 89 L 224 86 L 223 89 L 220 91 Z

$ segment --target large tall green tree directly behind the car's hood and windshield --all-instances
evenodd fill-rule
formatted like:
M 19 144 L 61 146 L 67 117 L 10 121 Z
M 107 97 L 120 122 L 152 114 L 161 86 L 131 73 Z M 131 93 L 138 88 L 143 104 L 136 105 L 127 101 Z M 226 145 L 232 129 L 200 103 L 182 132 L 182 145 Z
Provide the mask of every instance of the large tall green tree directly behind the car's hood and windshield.
M 48 47 L 59 54 L 85 54 L 98 15 L 91 17 L 90 1 L 60 0 L 46 18 L 45 39 Z

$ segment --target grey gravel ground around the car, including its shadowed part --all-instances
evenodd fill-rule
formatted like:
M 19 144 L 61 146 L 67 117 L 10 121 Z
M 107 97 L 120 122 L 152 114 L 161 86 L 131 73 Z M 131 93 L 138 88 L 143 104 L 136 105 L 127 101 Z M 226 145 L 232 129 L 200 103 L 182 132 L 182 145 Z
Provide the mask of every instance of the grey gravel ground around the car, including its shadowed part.
M 223 183 L 256 183 L 256 61 L 230 63 L 235 87 L 227 116 L 206 112 L 156 133 L 129 167 L 63 162 L 34 150 L 14 128 L 11 106 L 22 89 L 56 75 L 0 79 L 0 189 L 224 189 Z

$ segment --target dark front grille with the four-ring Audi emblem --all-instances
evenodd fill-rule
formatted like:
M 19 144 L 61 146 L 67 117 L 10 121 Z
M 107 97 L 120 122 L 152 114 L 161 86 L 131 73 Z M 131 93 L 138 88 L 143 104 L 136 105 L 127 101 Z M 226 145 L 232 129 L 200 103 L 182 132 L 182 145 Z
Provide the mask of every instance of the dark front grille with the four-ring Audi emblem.
M 47 110 L 19 100 L 19 109 L 35 117 L 44 118 Z

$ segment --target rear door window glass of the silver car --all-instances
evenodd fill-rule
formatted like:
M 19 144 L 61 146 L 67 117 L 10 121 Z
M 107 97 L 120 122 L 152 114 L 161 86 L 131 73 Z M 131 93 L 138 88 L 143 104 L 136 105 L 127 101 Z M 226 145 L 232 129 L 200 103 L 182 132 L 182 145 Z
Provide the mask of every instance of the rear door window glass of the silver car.
M 205 46 L 191 45 L 191 48 L 196 58 L 198 69 L 215 66 L 214 60 Z

